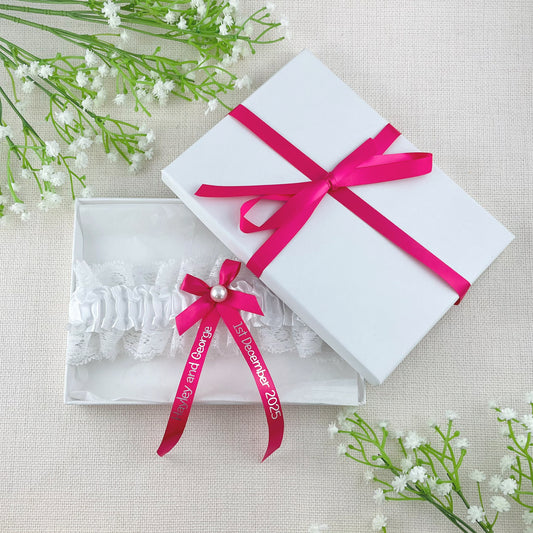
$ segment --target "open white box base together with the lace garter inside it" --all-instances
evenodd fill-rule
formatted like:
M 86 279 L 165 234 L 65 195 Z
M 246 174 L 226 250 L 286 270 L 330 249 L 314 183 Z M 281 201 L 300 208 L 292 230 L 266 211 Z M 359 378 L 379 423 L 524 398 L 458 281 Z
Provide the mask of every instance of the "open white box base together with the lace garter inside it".
M 214 284 L 232 257 L 179 200 L 77 200 L 65 402 L 171 403 L 194 338 L 194 331 L 178 335 L 174 323 L 195 299 L 179 290 L 181 281 L 192 274 Z M 232 287 L 261 304 L 264 316 L 243 313 L 243 319 L 284 403 L 364 402 L 358 373 L 253 274 L 242 269 Z M 260 401 L 222 326 L 195 401 Z

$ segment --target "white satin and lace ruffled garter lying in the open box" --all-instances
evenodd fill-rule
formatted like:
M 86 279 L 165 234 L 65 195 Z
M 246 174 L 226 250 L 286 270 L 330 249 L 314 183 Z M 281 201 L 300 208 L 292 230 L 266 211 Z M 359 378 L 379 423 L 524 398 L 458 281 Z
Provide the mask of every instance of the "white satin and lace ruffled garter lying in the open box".
M 74 265 L 75 290 L 70 299 L 67 361 L 81 365 L 114 359 L 118 354 L 138 360 L 188 353 L 194 331 L 180 336 L 174 317 L 195 297 L 179 290 L 190 273 L 215 285 L 224 261 L 188 258 L 152 265 L 122 262 Z M 207 266 L 207 265 L 213 265 Z M 308 357 L 322 349 L 322 340 L 249 270 L 242 268 L 231 288 L 255 294 L 264 316 L 242 312 L 261 350 L 297 351 Z M 209 356 L 238 356 L 235 341 L 222 324 Z

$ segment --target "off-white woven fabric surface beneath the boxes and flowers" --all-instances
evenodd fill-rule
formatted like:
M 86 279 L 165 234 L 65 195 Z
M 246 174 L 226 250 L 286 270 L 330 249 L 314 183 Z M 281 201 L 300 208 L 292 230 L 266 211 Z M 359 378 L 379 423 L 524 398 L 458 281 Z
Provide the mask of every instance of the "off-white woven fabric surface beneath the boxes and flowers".
M 504 441 L 487 400 L 524 411 L 533 389 L 533 4 L 279 0 L 278 12 L 293 39 L 260 49 L 242 72 L 260 84 L 310 48 L 516 234 L 361 410 L 426 432 L 427 418 L 456 409 L 473 444 L 465 470 L 496 472 Z M 57 50 L 51 37 L 5 21 L 0 34 L 43 55 Z M 42 102 L 31 107 L 43 116 Z M 154 160 L 130 176 L 93 156 L 95 193 L 170 196 L 159 169 L 221 117 L 179 102 L 156 113 Z M 64 406 L 72 209 L 34 215 L 0 234 L 0 531 L 370 530 L 373 487 L 328 440 L 334 408 L 287 407 L 283 447 L 260 464 L 259 407 L 195 408 L 180 445 L 160 459 L 168 408 Z M 423 504 L 389 503 L 384 513 L 391 532 L 456 531 Z M 498 531 L 522 531 L 519 515 Z

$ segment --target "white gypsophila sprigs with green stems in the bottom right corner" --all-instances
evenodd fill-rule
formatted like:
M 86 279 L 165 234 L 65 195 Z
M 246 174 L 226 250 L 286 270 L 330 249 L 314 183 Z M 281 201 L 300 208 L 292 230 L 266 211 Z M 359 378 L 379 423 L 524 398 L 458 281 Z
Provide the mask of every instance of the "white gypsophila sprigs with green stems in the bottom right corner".
M 447 411 L 442 424 L 432 421 L 430 438 L 414 430 L 389 434 L 388 423 L 373 427 L 357 412 L 346 411 L 330 425 L 329 433 L 332 438 L 337 434 L 349 437 L 348 442 L 337 444 L 337 451 L 367 467 L 364 477 L 378 484 L 373 492 L 378 504 L 422 501 L 435 507 L 460 531 L 494 533 L 500 516 L 516 502 L 525 509 L 523 522 L 525 531 L 529 531 L 533 530 L 533 394 L 526 399 L 529 407 L 525 414 L 491 403 L 498 421 L 506 428 L 507 453 L 499 465 L 501 474 L 492 475 L 486 484 L 483 472 L 468 474 L 476 487 L 468 496 L 463 489 L 461 466 L 470 444 L 455 427 L 460 420 L 455 411 Z M 386 528 L 385 516 L 375 516 L 372 529 Z

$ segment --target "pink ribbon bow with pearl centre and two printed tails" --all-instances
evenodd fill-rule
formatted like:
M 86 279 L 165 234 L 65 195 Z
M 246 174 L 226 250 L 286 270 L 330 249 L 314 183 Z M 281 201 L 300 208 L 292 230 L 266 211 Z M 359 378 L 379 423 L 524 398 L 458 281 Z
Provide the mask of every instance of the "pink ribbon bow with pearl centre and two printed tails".
M 281 445 L 283 413 L 279 396 L 261 352 L 240 315 L 240 311 L 248 311 L 257 315 L 262 315 L 263 312 L 254 295 L 228 287 L 239 273 L 240 267 L 241 264 L 238 261 L 229 259 L 224 261 L 220 269 L 219 285 L 214 287 L 210 287 L 201 279 L 189 274 L 185 276 L 181 284 L 182 291 L 200 298 L 176 317 L 178 333 L 182 335 L 198 321 L 200 321 L 200 327 L 185 363 L 163 440 L 157 450 L 161 457 L 174 448 L 185 430 L 205 356 L 220 318 L 225 322 L 244 356 L 263 402 L 269 430 L 268 447 L 263 461 Z

